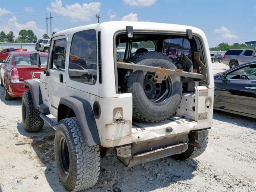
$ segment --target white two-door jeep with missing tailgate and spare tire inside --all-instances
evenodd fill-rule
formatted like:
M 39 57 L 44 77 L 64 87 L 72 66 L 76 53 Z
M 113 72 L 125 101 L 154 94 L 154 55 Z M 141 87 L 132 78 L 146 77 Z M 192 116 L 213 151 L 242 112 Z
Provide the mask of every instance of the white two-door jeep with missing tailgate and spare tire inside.
M 107 148 L 134 166 L 194 158 L 207 146 L 214 80 L 198 28 L 104 22 L 57 32 L 47 68 L 24 86 L 24 129 L 40 131 L 44 121 L 56 129 L 56 166 L 69 191 L 96 184 Z

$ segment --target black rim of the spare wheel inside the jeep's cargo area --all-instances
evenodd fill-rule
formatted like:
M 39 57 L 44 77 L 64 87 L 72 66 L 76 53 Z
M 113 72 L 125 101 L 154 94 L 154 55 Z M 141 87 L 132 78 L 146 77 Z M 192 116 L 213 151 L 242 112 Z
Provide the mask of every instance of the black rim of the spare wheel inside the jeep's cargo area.
M 154 73 L 148 72 L 144 76 L 143 90 L 151 102 L 156 104 L 162 104 L 170 97 L 172 91 L 172 84 L 170 77 L 162 81 L 162 83 L 157 83 L 154 80 Z

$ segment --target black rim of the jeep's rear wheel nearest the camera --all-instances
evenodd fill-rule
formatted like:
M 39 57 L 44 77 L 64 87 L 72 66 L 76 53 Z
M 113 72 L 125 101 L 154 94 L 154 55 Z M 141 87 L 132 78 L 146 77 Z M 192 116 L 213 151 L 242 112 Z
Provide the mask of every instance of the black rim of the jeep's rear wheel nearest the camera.
M 60 157 L 60 164 L 61 169 L 65 174 L 68 174 L 69 172 L 69 151 L 68 151 L 68 144 L 66 142 L 66 139 L 62 136 L 60 138 L 59 143 L 59 157 Z

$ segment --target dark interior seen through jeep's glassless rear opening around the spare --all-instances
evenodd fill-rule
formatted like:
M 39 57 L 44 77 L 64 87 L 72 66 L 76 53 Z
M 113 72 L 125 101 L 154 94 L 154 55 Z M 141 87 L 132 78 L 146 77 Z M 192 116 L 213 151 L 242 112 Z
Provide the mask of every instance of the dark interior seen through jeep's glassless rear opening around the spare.
M 159 52 L 165 56 L 168 56 L 176 68 L 187 72 L 194 72 L 194 70 L 196 70 L 197 73 L 200 73 L 200 67 L 195 65 L 196 62 L 194 62 L 194 52 L 199 52 L 200 61 L 203 64 L 205 62 L 203 52 L 201 51 L 200 40 L 197 37 L 193 37 L 189 40 L 186 35 L 136 34 L 134 32 L 133 38 L 128 38 L 125 33 L 116 36 L 115 45 L 116 61 L 121 62 L 128 62 L 136 55 L 143 52 Z M 182 62 L 185 57 L 190 61 L 190 66 L 186 66 L 186 64 Z M 128 92 L 127 78 L 131 72 L 132 70 L 122 68 L 117 69 L 117 93 L 122 94 Z M 154 78 L 154 74 L 149 74 L 147 78 Z M 195 79 L 184 77 L 181 77 L 181 79 L 183 84 L 183 92 L 194 92 Z M 200 85 L 202 84 L 205 85 L 205 81 L 201 81 Z M 162 85 L 160 84 L 157 86 L 161 87 Z M 144 90 L 148 92 L 151 91 L 150 85 L 145 85 Z M 150 97 L 149 99 L 154 98 Z

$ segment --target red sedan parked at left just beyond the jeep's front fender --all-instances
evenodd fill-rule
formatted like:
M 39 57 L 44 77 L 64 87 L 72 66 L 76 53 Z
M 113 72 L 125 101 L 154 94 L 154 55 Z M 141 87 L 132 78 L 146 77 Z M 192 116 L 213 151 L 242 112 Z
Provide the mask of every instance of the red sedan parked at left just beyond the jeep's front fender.
M 39 78 L 42 70 L 33 64 L 35 52 L 11 52 L 5 62 L 0 65 L 1 86 L 4 86 L 6 100 L 21 97 L 24 80 Z M 46 68 L 48 53 L 39 53 L 42 68 Z

